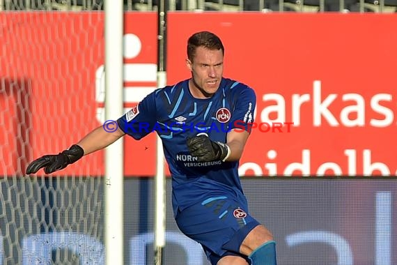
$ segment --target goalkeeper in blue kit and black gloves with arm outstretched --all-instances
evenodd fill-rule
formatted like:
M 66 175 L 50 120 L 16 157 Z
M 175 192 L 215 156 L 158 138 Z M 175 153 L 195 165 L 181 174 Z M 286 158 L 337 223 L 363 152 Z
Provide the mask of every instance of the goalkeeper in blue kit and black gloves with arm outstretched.
M 191 78 L 150 93 L 118 119 L 116 132 L 100 126 L 70 149 L 34 160 L 26 174 L 40 168 L 56 172 L 124 135 L 139 140 L 155 130 L 172 176 L 180 231 L 203 246 L 213 265 L 275 265 L 273 236 L 249 215 L 238 176 L 255 92 L 223 77 L 224 46 L 214 33 L 201 31 L 189 38 L 186 66 Z

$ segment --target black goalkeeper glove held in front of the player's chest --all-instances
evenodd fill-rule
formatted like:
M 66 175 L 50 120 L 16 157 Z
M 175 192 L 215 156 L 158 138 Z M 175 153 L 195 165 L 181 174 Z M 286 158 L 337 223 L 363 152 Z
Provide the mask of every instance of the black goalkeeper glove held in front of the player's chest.
M 229 146 L 211 141 L 206 133 L 199 133 L 195 137 L 187 138 L 186 144 L 189 153 L 196 156 L 200 162 L 226 161 L 231 153 Z

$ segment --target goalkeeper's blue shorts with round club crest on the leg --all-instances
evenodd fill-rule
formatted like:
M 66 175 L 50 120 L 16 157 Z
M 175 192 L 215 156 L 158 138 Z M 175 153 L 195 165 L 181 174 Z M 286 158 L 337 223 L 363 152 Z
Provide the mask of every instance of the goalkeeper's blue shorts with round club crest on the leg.
M 182 233 L 203 246 L 211 264 L 221 257 L 240 254 L 240 245 L 259 222 L 251 217 L 247 201 L 235 195 L 208 197 L 183 211 L 178 211 L 176 223 Z M 248 261 L 248 259 L 247 259 Z

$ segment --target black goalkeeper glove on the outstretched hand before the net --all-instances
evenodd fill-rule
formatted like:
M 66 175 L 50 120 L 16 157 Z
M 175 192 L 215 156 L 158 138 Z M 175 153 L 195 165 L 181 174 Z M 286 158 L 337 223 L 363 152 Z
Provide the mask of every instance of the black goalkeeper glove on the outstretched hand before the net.
M 58 155 L 42 156 L 31 162 L 26 169 L 26 174 L 34 174 L 44 167 L 45 174 L 51 174 L 64 169 L 84 156 L 84 150 L 77 144 L 70 146 L 70 149 L 62 151 Z

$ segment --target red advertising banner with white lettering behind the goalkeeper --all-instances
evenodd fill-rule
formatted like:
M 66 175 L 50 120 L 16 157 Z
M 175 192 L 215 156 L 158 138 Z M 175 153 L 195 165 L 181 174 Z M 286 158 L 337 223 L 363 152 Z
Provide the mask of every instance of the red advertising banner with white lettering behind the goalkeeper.
M 104 122 L 103 19 L 0 14 L 0 174 L 21 172 L 26 161 L 68 148 Z M 240 174 L 396 175 L 396 26 L 395 15 L 369 13 L 169 13 L 167 83 L 189 78 L 187 38 L 213 31 L 226 48 L 225 77 L 257 94 L 258 127 Z M 124 57 L 128 109 L 156 86 L 155 13 L 126 13 Z M 18 82 L 29 86 L 10 89 Z M 22 114 L 15 111 L 21 91 L 29 97 Z M 27 125 L 25 134 L 18 124 Z M 59 174 L 102 175 L 103 161 L 100 151 Z M 125 175 L 154 174 L 155 135 L 126 137 Z

